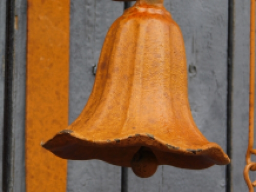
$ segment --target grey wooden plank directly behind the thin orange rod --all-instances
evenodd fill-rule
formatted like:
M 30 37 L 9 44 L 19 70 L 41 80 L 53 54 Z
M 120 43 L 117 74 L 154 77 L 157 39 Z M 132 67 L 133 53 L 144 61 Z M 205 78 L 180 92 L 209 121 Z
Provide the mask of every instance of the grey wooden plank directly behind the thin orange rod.
M 248 144 L 250 0 L 235 1 L 234 10 L 232 182 L 233 191 L 248 191 L 243 170 Z M 253 181 L 256 179 L 256 173 L 250 176 Z

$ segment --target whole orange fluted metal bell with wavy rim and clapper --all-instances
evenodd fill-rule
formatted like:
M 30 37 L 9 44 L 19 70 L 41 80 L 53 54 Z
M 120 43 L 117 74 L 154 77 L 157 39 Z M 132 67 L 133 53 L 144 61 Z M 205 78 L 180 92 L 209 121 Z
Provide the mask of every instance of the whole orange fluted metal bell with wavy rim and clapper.
M 230 162 L 193 120 L 182 33 L 163 1 L 137 1 L 114 22 L 86 107 L 43 146 L 64 159 L 132 167 L 139 177 L 152 176 L 158 165 Z

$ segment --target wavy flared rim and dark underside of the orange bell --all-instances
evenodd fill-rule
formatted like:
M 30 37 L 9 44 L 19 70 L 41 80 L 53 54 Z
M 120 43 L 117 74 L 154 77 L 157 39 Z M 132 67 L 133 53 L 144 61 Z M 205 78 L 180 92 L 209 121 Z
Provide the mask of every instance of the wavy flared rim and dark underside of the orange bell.
M 99 159 L 126 167 L 130 167 L 133 155 L 141 146 L 152 149 L 159 165 L 205 169 L 215 164 L 230 163 L 230 159 L 217 143 L 208 142 L 200 147 L 195 148 L 191 145 L 189 148 L 184 148 L 172 142 L 163 142 L 150 134 L 136 134 L 115 140 L 90 141 L 72 130 L 63 130 L 42 146 L 63 159 Z

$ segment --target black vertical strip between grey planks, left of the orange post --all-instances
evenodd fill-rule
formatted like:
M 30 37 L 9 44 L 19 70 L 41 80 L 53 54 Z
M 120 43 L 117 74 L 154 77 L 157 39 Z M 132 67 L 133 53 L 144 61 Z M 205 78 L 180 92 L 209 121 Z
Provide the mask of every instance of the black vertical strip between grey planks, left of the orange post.
M 12 98 L 15 0 L 6 1 L 6 52 L 4 89 L 3 191 L 12 191 Z

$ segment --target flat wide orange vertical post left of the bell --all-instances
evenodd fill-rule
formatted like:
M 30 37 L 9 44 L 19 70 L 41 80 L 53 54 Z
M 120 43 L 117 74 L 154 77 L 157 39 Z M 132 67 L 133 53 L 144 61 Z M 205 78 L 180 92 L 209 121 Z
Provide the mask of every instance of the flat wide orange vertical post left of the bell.
M 68 126 L 69 0 L 28 0 L 26 188 L 66 191 L 67 161 L 44 148 Z

